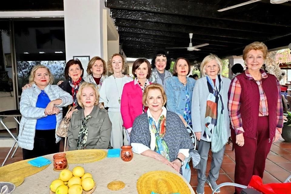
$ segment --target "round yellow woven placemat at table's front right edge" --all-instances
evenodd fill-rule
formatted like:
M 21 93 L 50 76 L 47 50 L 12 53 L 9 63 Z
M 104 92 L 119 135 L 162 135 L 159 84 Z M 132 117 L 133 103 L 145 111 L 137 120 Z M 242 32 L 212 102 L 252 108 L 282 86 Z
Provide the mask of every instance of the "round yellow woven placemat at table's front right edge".
M 159 194 L 191 193 L 186 182 L 180 176 L 167 171 L 151 171 L 143 174 L 137 180 L 136 187 L 139 194 L 152 191 Z

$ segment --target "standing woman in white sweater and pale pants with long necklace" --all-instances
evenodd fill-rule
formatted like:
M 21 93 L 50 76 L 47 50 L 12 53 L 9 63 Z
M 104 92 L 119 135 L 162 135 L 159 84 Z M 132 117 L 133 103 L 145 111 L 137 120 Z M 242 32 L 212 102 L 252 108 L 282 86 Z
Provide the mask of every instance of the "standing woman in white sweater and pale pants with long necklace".
M 112 132 L 110 143 L 113 148 L 120 148 L 128 145 L 125 129 L 122 127 L 123 121 L 120 113 L 120 103 L 123 86 L 132 81 L 131 77 L 123 74 L 126 69 L 126 63 L 122 55 L 113 54 L 108 62 L 108 71 L 113 73 L 104 80 L 99 90 L 100 100 L 104 107 L 108 107 L 108 115 L 112 122 Z

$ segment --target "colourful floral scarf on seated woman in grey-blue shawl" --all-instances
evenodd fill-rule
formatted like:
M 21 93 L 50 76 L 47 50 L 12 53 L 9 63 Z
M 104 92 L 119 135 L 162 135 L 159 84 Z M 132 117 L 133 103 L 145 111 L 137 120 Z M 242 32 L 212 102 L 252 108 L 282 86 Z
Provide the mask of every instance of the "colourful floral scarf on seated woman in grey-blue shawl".
M 159 118 L 158 126 L 156 126 L 154 119 L 152 117 L 149 117 L 149 129 L 156 136 L 155 151 L 170 161 L 169 148 L 168 148 L 166 142 L 163 140 L 163 138 L 166 134 L 166 117 L 164 115 L 162 115 Z M 157 129 L 159 129 L 159 131 Z

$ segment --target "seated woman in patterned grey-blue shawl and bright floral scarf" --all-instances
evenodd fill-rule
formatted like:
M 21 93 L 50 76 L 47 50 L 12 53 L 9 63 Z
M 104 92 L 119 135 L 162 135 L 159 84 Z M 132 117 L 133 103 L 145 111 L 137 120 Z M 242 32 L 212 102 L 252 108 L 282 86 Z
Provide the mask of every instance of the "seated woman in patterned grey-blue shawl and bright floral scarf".
M 142 103 L 148 110 L 133 122 L 131 146 L 133 152 L 157 159 L 181 173 L 193 143 L 180 117 L 164 107 L 166 101 L 162 85 L 146 87 Z

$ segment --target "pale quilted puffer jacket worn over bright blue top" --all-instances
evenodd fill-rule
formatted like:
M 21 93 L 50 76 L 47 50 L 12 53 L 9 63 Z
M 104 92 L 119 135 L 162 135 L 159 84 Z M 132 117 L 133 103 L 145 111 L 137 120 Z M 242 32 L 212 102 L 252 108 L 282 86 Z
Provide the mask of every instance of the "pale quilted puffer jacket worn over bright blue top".
M 45 87 L 44 91 L 51 101 L 62 99 L 62 104 L 57 105 L 60 110 L 62 110 L 61 107 L 73 103 L 72 96 L 62 90 L 58 85 L 49 84 Z M 19 103 L 22 118 L 19 127 L 18 145 L 28 150 L 33 149 L 36 120 L 46 116 L 45 109 L 35 107 L 40 93 L 41 90 L 35 84 L 32 84 L 31 88 L 23 90 Z M 56 119 L 57 125 L 55 128 L 57 129 L 62 120 L 62 113 L 56 115 Z M 61 140 L 59 136 L 55 135 L 55 137 L 56 143 Z

